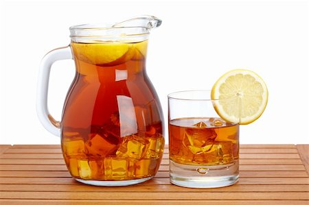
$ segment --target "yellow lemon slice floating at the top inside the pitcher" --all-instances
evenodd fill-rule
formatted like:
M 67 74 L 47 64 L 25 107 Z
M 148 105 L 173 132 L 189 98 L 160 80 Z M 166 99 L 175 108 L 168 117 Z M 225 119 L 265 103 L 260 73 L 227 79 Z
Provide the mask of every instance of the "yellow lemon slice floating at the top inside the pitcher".
M 130 60 L 134 52 L 130 43 L 72 43 L 75 56 L 97 65 L 121 64 Z M 113 63 L 115 62 L 115 63 Z

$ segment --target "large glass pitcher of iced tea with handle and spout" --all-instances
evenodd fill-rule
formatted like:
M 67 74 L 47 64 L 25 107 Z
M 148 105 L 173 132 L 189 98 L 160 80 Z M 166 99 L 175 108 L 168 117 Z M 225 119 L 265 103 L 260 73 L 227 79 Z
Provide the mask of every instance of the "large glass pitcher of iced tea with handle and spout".
M 164 148 L 163 114 L 146 74 L 155 16 L 113 25 L 70 27 L 71 44 L 47 53 L 38 78 L 37 111 L 44 127 L 61 137 L 71 176 L 85 184 L 125 186 L 157 173 Z M 61 121 L 47 108 L 51 66 L 72 59 L 76 75 Z

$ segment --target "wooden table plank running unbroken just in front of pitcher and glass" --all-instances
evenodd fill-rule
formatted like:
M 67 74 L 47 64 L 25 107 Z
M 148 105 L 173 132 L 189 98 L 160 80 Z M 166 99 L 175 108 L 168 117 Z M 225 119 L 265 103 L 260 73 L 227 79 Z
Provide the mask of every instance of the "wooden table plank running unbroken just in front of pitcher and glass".
M 118 187 L 108 187 L 108 186 L 89 186 L 85 184 L 3 184 L 0 185 L 0 191 L 66 191 L 66 192 L 308 192 L 309 185 L 297 184 L 297 185 L 246 185 L 246 184 L 236 184 L 233 186 L 226 186 L 220 189 L 189 189 L 181 186 L 174 186 L 172 184 L 163 184 L 153 186 L 151 184 L 136 184 L 134 186 L 118 186 Z

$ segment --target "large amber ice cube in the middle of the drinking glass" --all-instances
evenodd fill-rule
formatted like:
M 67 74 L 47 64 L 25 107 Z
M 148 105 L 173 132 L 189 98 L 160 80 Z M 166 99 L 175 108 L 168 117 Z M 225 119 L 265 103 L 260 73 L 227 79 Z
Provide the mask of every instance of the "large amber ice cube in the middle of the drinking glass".
M 202 154 L 211 149 L 214 138 L 216 138 L 214 130 L 187 128 L 183 137 L 183 145 L 190 149 L 193 154 Z

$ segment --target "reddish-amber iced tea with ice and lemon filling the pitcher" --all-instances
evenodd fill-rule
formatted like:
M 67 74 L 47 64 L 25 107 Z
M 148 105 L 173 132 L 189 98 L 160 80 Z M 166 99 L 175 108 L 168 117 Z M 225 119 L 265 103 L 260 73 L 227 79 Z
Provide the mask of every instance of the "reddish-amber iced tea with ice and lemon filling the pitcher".
M 85 180 L 155 176 L 164 147 L 163 115 L 145 73 L 147 41 L 71 47 L 76 77 L 61 123 L 71 175 Z

